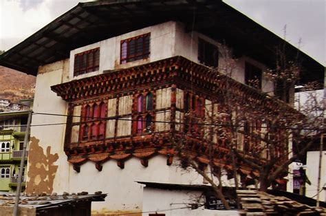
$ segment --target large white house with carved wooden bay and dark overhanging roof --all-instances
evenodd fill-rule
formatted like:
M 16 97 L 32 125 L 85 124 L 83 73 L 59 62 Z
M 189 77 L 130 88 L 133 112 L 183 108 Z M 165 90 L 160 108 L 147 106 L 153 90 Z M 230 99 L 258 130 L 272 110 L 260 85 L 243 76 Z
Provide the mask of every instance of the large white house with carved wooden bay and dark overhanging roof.
M 32 125 L 43 126 L 31 130 L 27 192 L 104 191 L 112 196 L 92 206 L 94 215 L 141 215 L 143 186 L 135 181 L 205 183 L 177 166 L 171 135 L 188 134 L 204 168 L 208 145 L 191 135 L 189 110 L 199 118 L 217 111 L 213 92 L 226 87 L 255 105 L 280 105 L 261 94 L 273 95 L 265 72 L 280 43 L 300 56 L 303 80 L 323 80 L 322 65 L 221 1 L 79 3 L 0 59 L 37 75 Z M 231 77 L 212 70 L 228 63 Z M 249 86 L 253 78 L 259 90 Z M 219 143 L 215 166 L 230 173 L 225 140 L 211 139 Z

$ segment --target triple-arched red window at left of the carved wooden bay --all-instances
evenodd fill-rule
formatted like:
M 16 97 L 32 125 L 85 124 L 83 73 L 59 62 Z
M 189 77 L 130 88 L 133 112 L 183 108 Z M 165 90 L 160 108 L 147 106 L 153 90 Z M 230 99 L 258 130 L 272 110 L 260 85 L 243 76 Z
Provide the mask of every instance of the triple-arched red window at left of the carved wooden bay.
M 83 107 L 82 140 L 100 140 L 105 137 L 106 112 L 107 105 L 105 102 L 96 102 Z

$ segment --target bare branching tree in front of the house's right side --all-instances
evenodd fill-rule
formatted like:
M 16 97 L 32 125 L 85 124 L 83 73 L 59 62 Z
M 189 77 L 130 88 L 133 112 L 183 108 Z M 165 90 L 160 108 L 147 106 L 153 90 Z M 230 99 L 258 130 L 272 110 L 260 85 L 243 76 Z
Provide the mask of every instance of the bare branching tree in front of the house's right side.
M 313 95 L 305 111 L 294 109 L 298 61 L 287 61 L 283 52 L 277 56 L 275 69 L 264 74 L 274 83 L 274 94 L 261 91 L 258 79 L 248 86 L 230 78 L 232 58 L 224 68 L 208 69 L 206 78 L 215 86 L 212 97 L 198 100 L 194 92 L 184 98 L 188 105 L 182 133 L 171 133 L 182 166 L 202 175 L 226 209 L 230 206 L 221 190 L 223 171 L 232 176 L 236 188 L 250 184 L 260 191 L 282 188 L 288 166 L 305 154 L 323 130 L 323 107 Z M 312 111 L 317 114 L 313 118 L 307 116 Z

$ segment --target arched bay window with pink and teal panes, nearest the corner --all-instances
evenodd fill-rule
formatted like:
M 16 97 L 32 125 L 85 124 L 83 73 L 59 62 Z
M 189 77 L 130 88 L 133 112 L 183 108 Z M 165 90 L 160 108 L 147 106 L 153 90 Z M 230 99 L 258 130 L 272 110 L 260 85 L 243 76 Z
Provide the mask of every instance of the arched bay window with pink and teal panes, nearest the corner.
M 151 132 L 151 123 L 153 120 L 153 94 L 139 94 L 137 100 L 137 114 L 135 123 L 135 133 Z

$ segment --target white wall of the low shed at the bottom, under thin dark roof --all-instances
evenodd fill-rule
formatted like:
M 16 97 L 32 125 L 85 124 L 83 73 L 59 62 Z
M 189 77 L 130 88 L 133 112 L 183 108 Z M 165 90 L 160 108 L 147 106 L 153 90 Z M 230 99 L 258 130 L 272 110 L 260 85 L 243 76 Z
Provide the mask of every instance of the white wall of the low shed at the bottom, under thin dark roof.
M 143 214 L 144 216 L 151 214 L 172 215 L 239 215 L 237 210 L 209 210 L 204 206 L 191 210 L 189 204 L 197 203 L 196 200 L 202 195 L 201 191 L 177 191 L 163 190 L 158 188 L 144 187 L 143 198 Z

